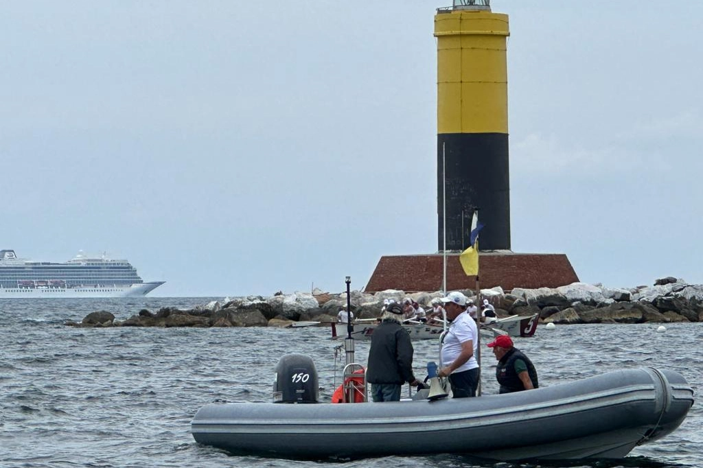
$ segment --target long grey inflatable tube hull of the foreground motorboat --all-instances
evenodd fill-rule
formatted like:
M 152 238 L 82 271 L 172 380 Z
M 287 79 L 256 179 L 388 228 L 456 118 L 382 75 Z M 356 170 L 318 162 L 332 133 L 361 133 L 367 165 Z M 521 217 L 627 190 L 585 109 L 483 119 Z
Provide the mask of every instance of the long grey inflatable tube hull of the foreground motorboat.
M 608 372 L 515 394 L 354 404 L 211 403 L 198 443 L 268 457 L 460 453 L 491 460 L 620 458 L 662 438 L 693 404 L 670 370 Z

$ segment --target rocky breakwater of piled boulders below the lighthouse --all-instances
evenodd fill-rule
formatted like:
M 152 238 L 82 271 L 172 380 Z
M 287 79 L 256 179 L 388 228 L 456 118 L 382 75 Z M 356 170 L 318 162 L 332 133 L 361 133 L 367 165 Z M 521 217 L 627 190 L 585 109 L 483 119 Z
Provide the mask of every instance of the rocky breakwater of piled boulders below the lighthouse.
M 463 291 L 474 296 L 472 291 Z M 356 318 L 380 316 L 385 299 L 402 301 L 410 297 L 426 309 L 441 292 L 386 290 L 367 294 L 351 292 L 352 312 Z M 504 292 L 500 287 L 481 291 L 496 308 L 499 317 L 538 313 L 541 323 L 670 323 L 703 321 L 703 285 L 690 285 L 676 278 L 661 278 L 653 286 L 630 289 L 609 288 L 576 282 L 557 288 Z M 89 313 L 75 327 L 288 327 L 299 321 L 321 325 L 337 320 L 337 312 L 347 304 L 347 294 L 276 293 L 272 297 L 240 297 L 212 301 L 189 310 L 142 309 L 119 320 L 109 311 Z

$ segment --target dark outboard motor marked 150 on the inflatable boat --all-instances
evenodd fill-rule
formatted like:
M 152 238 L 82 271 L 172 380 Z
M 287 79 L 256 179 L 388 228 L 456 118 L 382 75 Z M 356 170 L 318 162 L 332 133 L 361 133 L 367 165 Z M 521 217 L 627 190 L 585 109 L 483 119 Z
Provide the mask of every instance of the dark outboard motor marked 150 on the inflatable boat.
M 276 364 L 273 403 L 318 403 L 317 370 L 309 356 L 286 354 Z

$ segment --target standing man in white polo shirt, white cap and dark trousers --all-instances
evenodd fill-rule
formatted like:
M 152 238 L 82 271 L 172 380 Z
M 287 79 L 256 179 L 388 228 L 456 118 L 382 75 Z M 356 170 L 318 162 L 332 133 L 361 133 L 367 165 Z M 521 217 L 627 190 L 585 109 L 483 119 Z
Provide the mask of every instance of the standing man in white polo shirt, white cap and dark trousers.
M 466 313 L 469 299 L 458 291 L 442 298 L 449 327 L 441 339 L 441 368 L 439 377 L 449 376 L 454 398 L 476 396 L 479 384 L 478 327 Z

